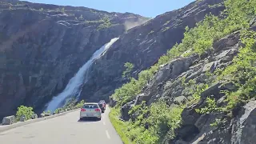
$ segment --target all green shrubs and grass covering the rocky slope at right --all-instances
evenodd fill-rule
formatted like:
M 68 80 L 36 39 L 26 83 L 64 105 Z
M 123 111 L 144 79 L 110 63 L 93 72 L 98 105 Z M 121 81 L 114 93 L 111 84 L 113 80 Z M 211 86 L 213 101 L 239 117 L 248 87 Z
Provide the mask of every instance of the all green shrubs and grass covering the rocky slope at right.
M 200 1 L 197 1 L 200 2 Z M 198 22 L 197 26 L 190 29 L 186 27 L 184 38 L 180 44 L 176 44 L 167 51 L 165 56 L 159 59 L 158 63 L 151 66 L 148 70 L 143 70 L 138 79 L 131 78 L 130 82 L 115 90 L 111 96 L 118 100 L 114 110 L 111 111 L 110 119 L 118 134 L 125 143 L 164 143 L 175 137 L 175 129 L 180 126 L 181 113 L 184 106 L 191 102 L 198 102 L 200 94 L 206 90 L 208 84 L 197 86 L 197 90 L 192 95 L 192 100 L 181 106 L 168 106 L 166 102 L 155 102 L 151 106 L 134 106 L 130 114 L 138 115 L 133 121 L 122 122 L 118 120 L 120 106 L 134 99 L 137 94 L 142 92 L 154 72 L 159 66 L 177 58 L 187 50 L 189 54 L 202 54 L 206 50 L 211 50 L 214 41 L 240 30 L 241 39 L 244 47 L 241 47 L 239 54 L 234 58 L 233 64 L 225 70 L 214 72 L 218 76 L 217 80 L 234 82 L 238 86 L 236 91 L 226 91 L 226 106 L 218 107 L 214 98 L 206 98 L 207 106 L 197 110 L 200 114 L 214 112 L 225 112 L 232 117 L 232 110 L 239 103 L 248 102 L 256 95 L 256 34 L 249 30 L 250 19 L 256 16 L 256 0 L 226 0 L 226 10 L 222 16 L 207 15 L 205 20 Z M 211 74 L 208 74 L 210 76 Z M 214 81 L 209 81 L 209 84 Z M 207 82 L 208 83 L 208 82 Z M 194 85 L 191 81 L 184 82 L 183 86 Z M 211 126 L 226 122 L 226 119 L 217 119 Z

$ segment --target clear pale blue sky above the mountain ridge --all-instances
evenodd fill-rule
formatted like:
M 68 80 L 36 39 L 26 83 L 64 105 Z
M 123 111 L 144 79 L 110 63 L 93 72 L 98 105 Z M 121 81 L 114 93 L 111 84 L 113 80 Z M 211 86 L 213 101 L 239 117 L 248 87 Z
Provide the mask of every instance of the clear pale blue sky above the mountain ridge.
M 194 0 L 25 0 L 61 6 L 85 6 L 108 12 L 130 12 L 154 18 L 166 11 L 176 10 Z

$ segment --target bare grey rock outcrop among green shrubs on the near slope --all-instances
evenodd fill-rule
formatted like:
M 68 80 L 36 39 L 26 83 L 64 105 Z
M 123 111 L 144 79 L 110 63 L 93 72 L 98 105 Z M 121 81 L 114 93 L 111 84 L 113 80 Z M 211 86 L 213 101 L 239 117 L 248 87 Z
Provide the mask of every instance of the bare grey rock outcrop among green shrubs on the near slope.
M 254 26 L 250 30 L 256 32 L 256 21 L 253 20 L 252 23 Z M 213 49 L 206 53 L 176 58 L 161 66 L 149 85 L 142 90 L 142 94 L 122 106 L 121 118 L 124 121 L 131 119 L 138 122 L 139 112 L 129 113 L 133 107 L 143 101 L 151 106 L 152 103 L 163 100 L 173 108 L 182 105 L 186 107 L 181 113 L 181 126 L 175 130 L 176 136 L 168 142 L 170 144 L 255 143 L 255 98 L 236 104 L 230 113 L 218 110 L 228 103 L 227 93 L 223 91 L 238 90 L 230 77 L 218 80 L 217 75 L 234 64 L 239 48 L 245 46 L 240 36 L 240 31 L 236 31 L 214 42 Z M 253 87 L 250 90 L 251 94 L 255 93 Z M 199 94 L 199 99 L 194 102 L 196 94 Z M 208 98 L 214 101 L 209 102 Z M 115 105 L 114 101 L 110 103 Z

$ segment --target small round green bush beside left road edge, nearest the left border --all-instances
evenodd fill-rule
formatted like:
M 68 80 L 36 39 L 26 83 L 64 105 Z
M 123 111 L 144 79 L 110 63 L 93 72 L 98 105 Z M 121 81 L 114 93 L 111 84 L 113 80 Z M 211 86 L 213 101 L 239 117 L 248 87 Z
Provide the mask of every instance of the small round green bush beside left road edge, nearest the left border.
M 17 119 L 17 121 L 19 121 L 23 115 L 23 116 L 25 116 L 25 120 L 29 120 L 32 118 L 33 114 L 34 114 L 34 111 L 33 111 L 32 107 L 19 106 L 18 111 L 16 113 L 16 119 Z

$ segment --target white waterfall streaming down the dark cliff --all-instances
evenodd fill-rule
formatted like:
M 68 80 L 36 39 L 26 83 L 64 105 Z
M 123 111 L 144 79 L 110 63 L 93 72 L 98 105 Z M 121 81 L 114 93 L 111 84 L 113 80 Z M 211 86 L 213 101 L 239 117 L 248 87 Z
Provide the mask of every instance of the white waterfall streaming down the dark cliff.
M 54 111 L 58 107 L 63 105 L 63 102 L 66 98 L 70 98 L 72 96 L 79 97 L 81 93 L 82 84 L 86 82 L 86 72 L 89 70 L 90 66 L 94 62 L 94 60 L 100 58 L 103 54 L 106 53 L 106 50 L 112 46 L 114 42 L 116 42 L 118 38 L 111 39 L 110 42 L 106 43 L 99 50 L 95 51 L 93 56 L 89 61 L 86 62 L 79 70 L 78 73 L 74 75 L 73 78 L 70 79 L 70 82 L 66 85 L 65 90 L 62 93 L 55 96 L 48 104 L 46 110 Z

